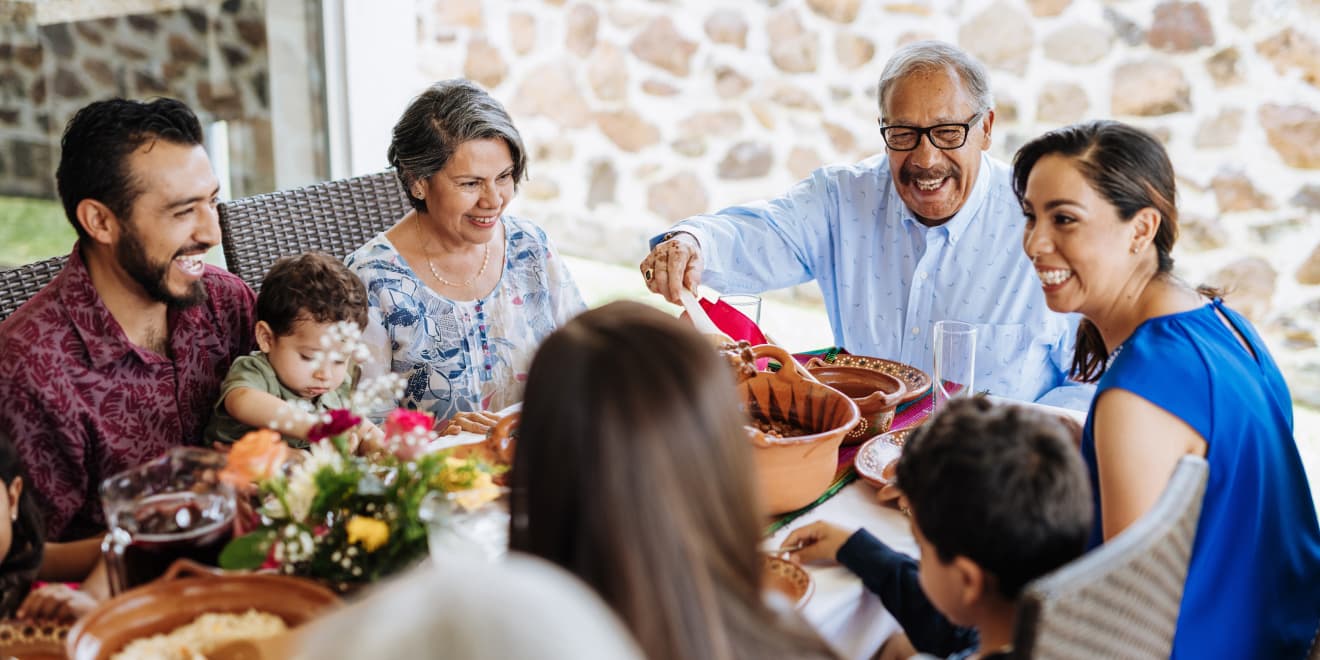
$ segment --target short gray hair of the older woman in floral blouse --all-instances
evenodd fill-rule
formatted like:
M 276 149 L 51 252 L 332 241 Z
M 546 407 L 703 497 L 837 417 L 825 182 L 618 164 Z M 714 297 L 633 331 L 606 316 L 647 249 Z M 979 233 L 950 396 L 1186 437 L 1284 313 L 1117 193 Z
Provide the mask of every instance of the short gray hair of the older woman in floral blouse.
M 477 83 L 453 78 L 432 84 L 408 104 L 389 141 L 389 165 L 418 211 L 426 202 L 413 185 L 445 169 L 458 147 L 471 140 L 500 139 L 513 157 L 513 186 L 527 176 L 527 149 L 504 106 Z

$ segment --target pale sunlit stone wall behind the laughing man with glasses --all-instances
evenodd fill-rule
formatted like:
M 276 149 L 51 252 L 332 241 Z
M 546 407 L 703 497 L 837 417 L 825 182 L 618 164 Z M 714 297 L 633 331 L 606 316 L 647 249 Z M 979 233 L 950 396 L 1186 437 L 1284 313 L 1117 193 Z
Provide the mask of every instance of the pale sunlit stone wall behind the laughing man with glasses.
M 672 220 L 882 149 L 875 82 L 941 38 L 991 69 L 994 154 L 1086 117 L 1168 145 L 1180 273 L 1232 289 L 1320 405 L 1320 0 L 418 0 L 417 66 L 504 100 L 516 210 L 635 264 Z M 813 286 L 797 296 L 813 296 Z

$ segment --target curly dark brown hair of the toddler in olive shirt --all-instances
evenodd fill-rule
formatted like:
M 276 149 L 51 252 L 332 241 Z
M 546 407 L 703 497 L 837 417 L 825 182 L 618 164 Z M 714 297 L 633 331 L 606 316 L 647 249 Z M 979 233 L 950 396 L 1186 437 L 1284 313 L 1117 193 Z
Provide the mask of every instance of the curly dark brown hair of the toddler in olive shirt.
M 261 280 L 256 319 L 276 337 L 293 331 L 297 321 L 367 326 L 367 288 L 348 267 L 321 252 L 280 259 Z

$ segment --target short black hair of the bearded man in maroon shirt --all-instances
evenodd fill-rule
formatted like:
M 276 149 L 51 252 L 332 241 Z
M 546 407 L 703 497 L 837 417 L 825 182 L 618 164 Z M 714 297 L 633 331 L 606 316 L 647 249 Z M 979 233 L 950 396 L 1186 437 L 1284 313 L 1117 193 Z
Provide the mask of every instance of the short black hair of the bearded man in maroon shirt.
M 78 222 L 78 203 L 95 199 L 116 216 L 128 219 L 143 193 L 128 168 L 128 156 L 156 140 L 202 144 L 202 124 L 182 102 L 108 99 L 79 110 L 59 140 L 55 185 L 65 216 L 86 239 Z

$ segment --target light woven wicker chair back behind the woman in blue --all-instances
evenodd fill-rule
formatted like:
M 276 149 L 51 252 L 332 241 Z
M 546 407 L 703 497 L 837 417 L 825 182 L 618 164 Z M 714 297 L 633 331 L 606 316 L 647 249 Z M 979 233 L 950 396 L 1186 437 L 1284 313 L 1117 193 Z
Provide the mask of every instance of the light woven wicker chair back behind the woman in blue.
M 1183 457 L 1159 502 L 1109 543 L 1023 590 L 1018 657 L 1160 657 L 1173 645 L 1209 467 Z

